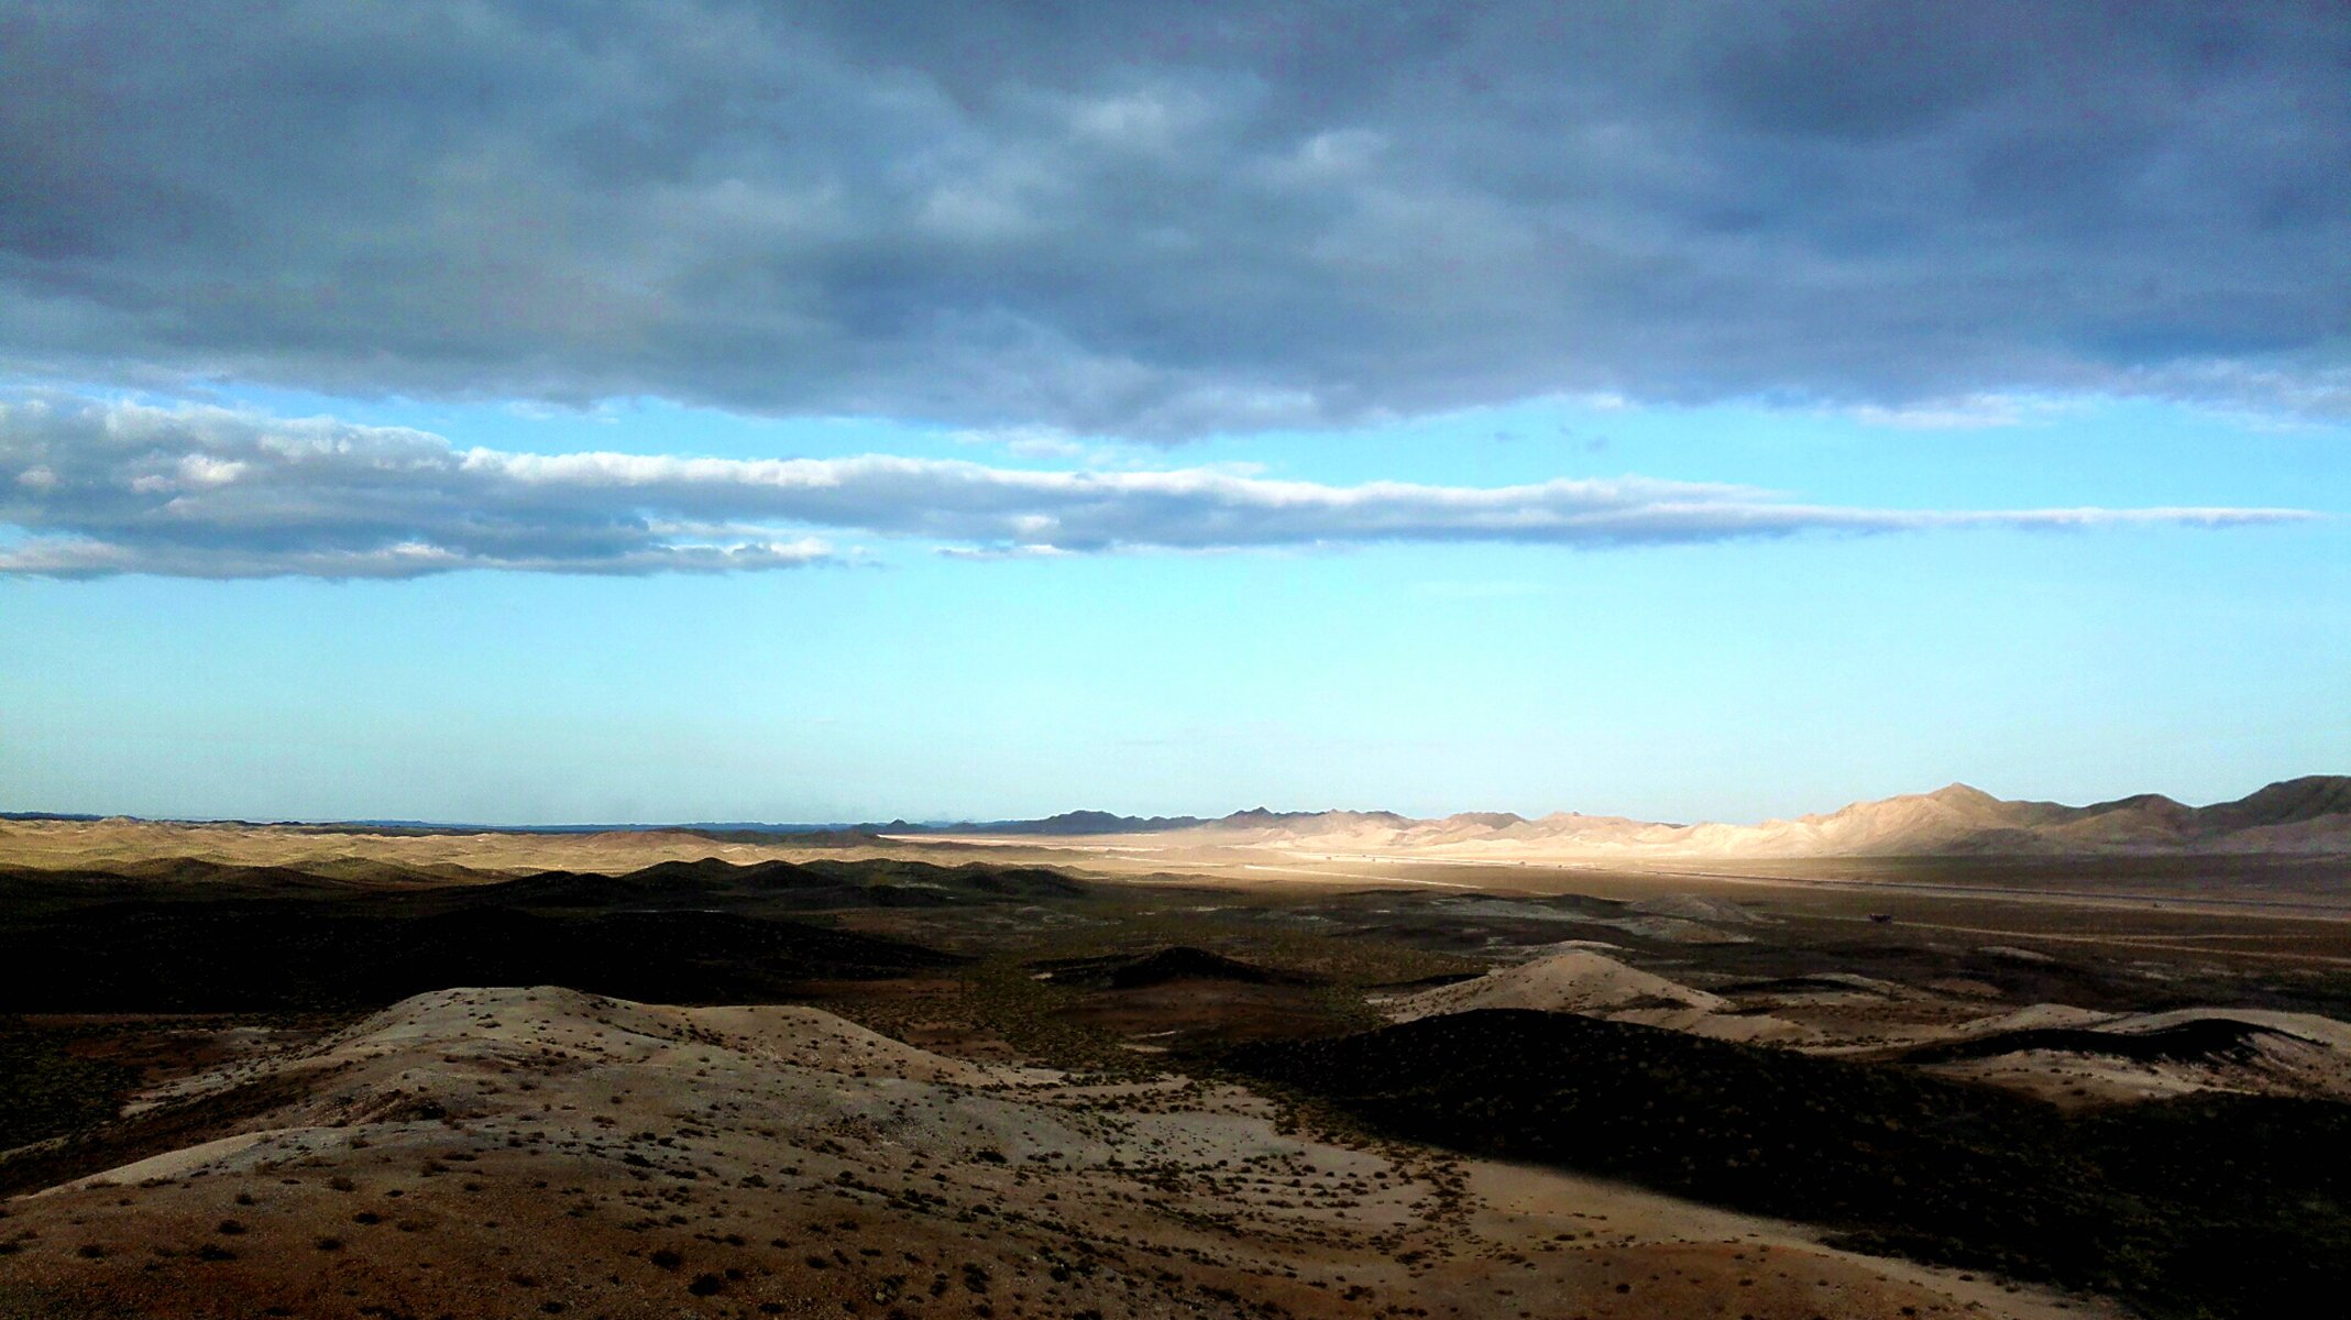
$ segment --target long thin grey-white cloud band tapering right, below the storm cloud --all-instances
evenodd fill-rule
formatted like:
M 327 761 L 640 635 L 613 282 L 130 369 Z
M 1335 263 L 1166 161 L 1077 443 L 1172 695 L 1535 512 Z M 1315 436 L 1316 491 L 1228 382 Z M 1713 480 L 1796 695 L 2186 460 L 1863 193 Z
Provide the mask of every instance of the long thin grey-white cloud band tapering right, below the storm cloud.
M 1025 472 L 936 458 L 498 453 L 331 418 L 0 402 L 0 573 L 411 578 L 454 568 L 743 571 L 844 561 L 816 533 L 957 554 L 1486 540 L 1695 543 L 1803 531 L 2295 521 L 2297 510 L 1857 510 L 1744 486 L 1324 486 L 1213 467 Z

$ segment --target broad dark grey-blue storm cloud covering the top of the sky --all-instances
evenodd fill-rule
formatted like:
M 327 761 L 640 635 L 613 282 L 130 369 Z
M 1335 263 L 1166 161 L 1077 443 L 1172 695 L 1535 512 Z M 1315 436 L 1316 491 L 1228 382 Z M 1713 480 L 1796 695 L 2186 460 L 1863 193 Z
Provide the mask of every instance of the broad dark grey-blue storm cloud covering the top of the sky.
M 2351 9 L 0 2 L 21 376 L 2351 416 Z

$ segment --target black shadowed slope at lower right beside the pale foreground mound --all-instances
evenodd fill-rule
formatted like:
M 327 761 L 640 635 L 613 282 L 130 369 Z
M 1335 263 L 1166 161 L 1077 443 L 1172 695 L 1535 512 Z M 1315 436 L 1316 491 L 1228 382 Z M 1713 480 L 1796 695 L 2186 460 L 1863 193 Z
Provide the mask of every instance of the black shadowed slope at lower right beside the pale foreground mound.
M 1227 1066 L 1399 1137 L 1622 1177 L 1846 1242 L 2266 1318 L 2351 1285 L 2351 1106 L 2208 1095 L 2067 1118 L 1895 1064 L 1481 1010 Z

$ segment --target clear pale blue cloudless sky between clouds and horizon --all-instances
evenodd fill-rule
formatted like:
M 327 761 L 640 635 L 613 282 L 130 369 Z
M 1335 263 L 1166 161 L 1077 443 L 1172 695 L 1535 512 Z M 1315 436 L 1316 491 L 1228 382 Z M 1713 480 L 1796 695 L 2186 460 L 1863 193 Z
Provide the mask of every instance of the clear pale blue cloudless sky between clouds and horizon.
M 256 402 L 292 416 L 313 404 Z M 602 420 L 339 411 L 543 453 L 1049 463 L 938 430 L 658 404 Z M 2217 801 L 2330 768 L 2351 745 L 2351 472 L 2332 427 L 2156 404 L 1968 430 L 1528 404 L 1342 437 L 1091 451 L 1340 484 L 1639 470 L 1890 507 L 2335 517 L 983 561 L 860 538 L 868 564 L 743 575 L 21 578 L 0 582 L 12 806 L 498 822 L 1255 803 L 1756 820 L 1949 780 Z

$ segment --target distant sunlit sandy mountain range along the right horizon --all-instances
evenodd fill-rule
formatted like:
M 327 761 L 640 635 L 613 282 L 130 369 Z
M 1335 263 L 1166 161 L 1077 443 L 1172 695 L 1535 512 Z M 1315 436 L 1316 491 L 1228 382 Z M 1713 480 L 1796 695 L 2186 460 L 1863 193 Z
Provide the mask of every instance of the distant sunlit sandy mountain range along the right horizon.
M 2351 853 L 2351 777 L 2280 780 L 2238 801 L 2184 806 L 2139 794 L 2092 806 L 2001 801 L 1968 784 L 1853 803 L 1763 824 L 1662 824 L 1620 815 L 1460 813 L 1411 820 L 1373 810 L 1270 813 L 1223 820 L 1128 820 L 1072 813 L 985 827 L 992 836 L 1281 848 L 1324 855 L 1418 855 L 1531 862 L 1563 857 L 1900 857 L 2102 853 Z

